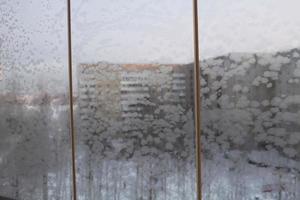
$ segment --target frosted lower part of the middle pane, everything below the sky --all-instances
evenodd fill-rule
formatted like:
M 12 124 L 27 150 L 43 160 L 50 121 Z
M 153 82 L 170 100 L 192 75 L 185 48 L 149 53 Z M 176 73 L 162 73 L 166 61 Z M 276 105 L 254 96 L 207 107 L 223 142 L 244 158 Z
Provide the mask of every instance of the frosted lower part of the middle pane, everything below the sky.
M 79 199 L 196 198 L 192 69 L 79 66 Z

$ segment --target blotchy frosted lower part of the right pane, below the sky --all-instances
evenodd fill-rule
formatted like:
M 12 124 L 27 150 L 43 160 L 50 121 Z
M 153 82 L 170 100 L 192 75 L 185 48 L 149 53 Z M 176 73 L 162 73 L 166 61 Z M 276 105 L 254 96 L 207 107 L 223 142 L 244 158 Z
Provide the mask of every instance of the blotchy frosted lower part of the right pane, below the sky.
M 300 50 L 201 67 L 203 199 L 300 199 Z

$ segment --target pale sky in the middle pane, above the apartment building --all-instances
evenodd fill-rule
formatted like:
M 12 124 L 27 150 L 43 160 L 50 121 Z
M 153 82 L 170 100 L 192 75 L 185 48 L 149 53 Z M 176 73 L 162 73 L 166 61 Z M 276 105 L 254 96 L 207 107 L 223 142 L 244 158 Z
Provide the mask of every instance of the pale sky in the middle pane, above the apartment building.
M 74 54 L 80 61 L 193 60 L 192 1 L 81 0 L 73 8 Z

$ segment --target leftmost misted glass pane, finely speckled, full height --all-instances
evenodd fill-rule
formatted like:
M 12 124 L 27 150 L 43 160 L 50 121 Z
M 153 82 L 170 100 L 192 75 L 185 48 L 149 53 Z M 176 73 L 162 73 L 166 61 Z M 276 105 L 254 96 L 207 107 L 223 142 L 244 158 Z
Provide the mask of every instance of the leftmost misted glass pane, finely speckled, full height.
M 0 0 L 0 199 L 71 199 L 66 2 Z

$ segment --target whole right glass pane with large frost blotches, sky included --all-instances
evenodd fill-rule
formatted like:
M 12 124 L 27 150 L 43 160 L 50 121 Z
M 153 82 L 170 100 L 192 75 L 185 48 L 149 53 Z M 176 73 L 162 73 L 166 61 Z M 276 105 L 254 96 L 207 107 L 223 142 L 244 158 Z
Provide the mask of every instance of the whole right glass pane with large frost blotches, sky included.
M 203 199 L 300 199 L 300 3 L 199 1 Z

